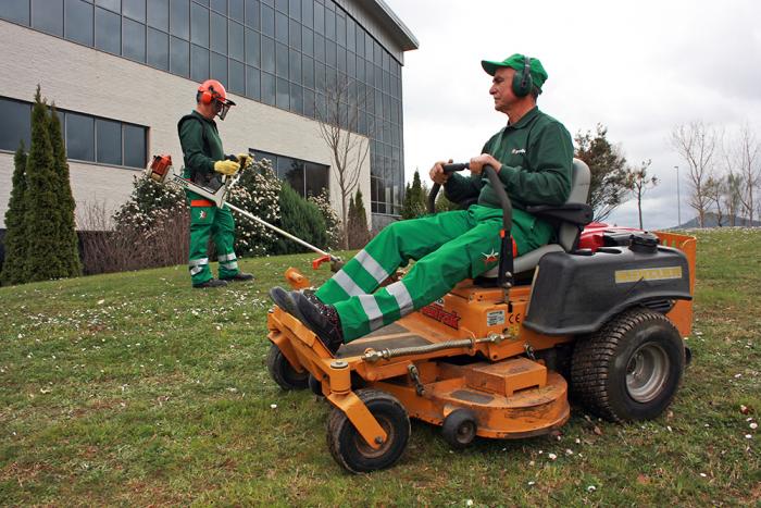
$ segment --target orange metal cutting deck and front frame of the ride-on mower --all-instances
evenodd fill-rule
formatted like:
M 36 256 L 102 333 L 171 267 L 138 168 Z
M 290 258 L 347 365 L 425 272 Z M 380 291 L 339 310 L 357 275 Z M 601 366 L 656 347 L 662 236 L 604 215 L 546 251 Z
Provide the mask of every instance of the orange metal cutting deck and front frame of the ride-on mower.
M 311 331 L 277 307 L 270 313 L 270 338 L 294 368 L 302 367 L 321 381 L 323 395 L 337 407 L 346 404 L 341 399 L 353 388 L 347 386 L 348 370 L 361 379 L 361 385 L 397 397 L 412 418 L 441 425 L 452 411 L 466 409 L 477 420 L 475 433 L 482 437 L 521 438 L 546 434 L 569 419 L 567 384 L 542 363 L 519 356 L 525 352 L 525 337 L 376 361 L 364 356 L 369 350 L 423 348 L 475 338 L 478 335 L 465 327 L 453 329 L 451 320 L 450 324 L 444 324 L 447 315 L 457 315 L 457 310 L 452 309 L 460 305 L 472 308 L 482 305 L 484 313 L 499 308 L 507 313 L 504 323 L 509 323 L 511 317 L 512 321 L 520 320 L 522 306 L 509 313 L 506 305 L 491 302 L 489 297 L 496 300 L 499 294 L 464 284 L 447 297 L 446 307 L 438 305 L 414 312 L 341 346 L 335 357 Z M 432 319 L 437 312 L 446 315 Z M 491 332 L 508 332 L 504 323 Z M 487 358 L 499 361 L 485 361 Z M 350 384 L 355 385 L 357 377 Z

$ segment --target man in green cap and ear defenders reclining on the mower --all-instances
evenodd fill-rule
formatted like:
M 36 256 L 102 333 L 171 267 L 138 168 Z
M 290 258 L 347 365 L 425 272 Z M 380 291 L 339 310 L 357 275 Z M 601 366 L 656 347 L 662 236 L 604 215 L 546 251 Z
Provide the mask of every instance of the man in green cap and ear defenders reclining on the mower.
M 532 205 L 562 205 L 571 193 L 571 135 L 536 106 L 547 72 L 538 59 L 519 53 L 481 64 L 492 76 L 495 110 L 508 116 L 508 124 L 470 160 L 470 176 L 445 173 L 444 162 L 436 162 L 429 173 L 450 200 L 474 198 L 477 205 L 386 226 L 314 294 L 271 290 L 275 303 L 301 319 L 332 352 L 497 264 L 502 210 L 483 174 L 485 165 L 497 172 L 512 200 L 513 256 L 554 236 L 549 223 L 525 211 Z M 404 277 L 378 289 L 410 259 L 417 262 Z

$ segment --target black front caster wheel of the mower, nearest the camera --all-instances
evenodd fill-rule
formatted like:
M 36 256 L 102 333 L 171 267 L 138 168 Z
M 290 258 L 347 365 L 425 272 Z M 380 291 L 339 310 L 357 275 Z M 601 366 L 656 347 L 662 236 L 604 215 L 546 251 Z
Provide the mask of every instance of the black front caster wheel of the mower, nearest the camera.
M 388 468 L 399 460 L 410 438 L 407 410 L 396 397 L 385 392 L 359 389 L 355 393 L 386 432 L 386 441 L 378 449 L 372 448 L 346 413 L 334 407 L 327 420 L 327 446 L 330 455 L 350 473 Z

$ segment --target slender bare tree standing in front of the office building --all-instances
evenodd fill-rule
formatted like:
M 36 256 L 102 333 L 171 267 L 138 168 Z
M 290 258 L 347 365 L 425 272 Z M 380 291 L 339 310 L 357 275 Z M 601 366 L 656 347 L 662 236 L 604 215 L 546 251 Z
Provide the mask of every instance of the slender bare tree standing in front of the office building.
M 344 248 L 349 245 L 349 203 L 359 184 L 362 166 L 370 153 L 372 125 L 366 125 L 365 98 L 358 84 L 348 77 L 332 76 L 325 95 L 319 96 L 315 117 L 320 135 L 330 150 L 330 171 L 338 182 Z M 360 132 L 366 135 L 358 134 Z

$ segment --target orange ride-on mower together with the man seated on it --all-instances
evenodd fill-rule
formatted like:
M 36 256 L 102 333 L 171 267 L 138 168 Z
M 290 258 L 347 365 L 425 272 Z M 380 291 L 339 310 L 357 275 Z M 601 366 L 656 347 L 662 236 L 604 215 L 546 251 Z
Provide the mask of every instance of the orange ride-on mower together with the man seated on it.
M 682 377 L 695 239 L 582 233 L 589 170 L 536 109 L 547 73 L 519 54 L 482 64 L 510 123 L 469 164 L 437 163 L 429 196 L 432 208 L 446 184 L 477 205 L 392 224 L 315 293 L 271 293 L 270 373 L 334 406 L 328 447 L 351 472 L 395 463 L 409 417 L 463 447 L 558 429 L 566 379 L 587 409 L 627 421 L 660 414 Z M 466 168 L 470 178 L 456 174 Z

